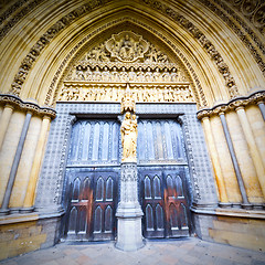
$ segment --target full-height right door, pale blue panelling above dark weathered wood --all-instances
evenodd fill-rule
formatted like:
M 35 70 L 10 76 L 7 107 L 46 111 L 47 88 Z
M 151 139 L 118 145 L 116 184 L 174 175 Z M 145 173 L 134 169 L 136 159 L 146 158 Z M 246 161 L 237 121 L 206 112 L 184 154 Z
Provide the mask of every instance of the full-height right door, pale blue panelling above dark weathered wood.
M 139 119 L 138 165 L 144 235 L 189 235 L 189 174 L 181 125 L 176 119 Z

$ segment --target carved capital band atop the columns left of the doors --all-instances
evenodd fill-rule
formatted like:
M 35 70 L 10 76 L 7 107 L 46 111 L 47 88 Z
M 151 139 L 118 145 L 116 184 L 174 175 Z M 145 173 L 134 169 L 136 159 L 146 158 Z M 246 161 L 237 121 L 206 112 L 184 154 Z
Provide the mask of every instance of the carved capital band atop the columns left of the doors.
M 35 103 L 23 102 L 14 95 L 0 94 L 0 105 L 10 105 L 14 109 L 32 112 L 38 116 L 47 116 L 51 119 L 56 117 L 56 112 L 50 107 L 40 107 Z

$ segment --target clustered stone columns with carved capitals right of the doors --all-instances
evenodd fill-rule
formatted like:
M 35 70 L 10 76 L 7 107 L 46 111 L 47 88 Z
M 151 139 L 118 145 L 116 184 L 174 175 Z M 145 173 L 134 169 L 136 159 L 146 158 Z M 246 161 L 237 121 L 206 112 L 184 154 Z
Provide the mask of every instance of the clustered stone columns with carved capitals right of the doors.
M 222 124 L 223 131 L 224 131 L 224 137 L 225 137 L 226 144 L 227 144 L 231 160 L 232 160 L 234 171 L 235 171 L 235 177 L 237 179 L 237 183 L 239 183 L 239 188 L 240 188 L 240 192 L 241 192 L 241 197 L 242 197 L 241 206 L 244 209 L 252 209 L 253 204 L 250 203 L 248 198 L 247 198 L 246 188 L 245 188 L 245 184 L 244 184 L 244 181 L 242 178 L 241 168 L 240 168 L 240 165 L 239 165 L 239 161 L 236 158 L 236 152 L 234 150 L 234 146 L 233 146 L 233 142 L 231 139 L 231 132 L 229 131 L 229 127 L 226 124 L 225 113 L 235 110 L 235 113 L 237 114 L 237 117 L 239 117 L 239 120 L 240 120 L 240 124 L 241 124 L 241 127 L 243 130 L 243 135 L 246 140 L 246 144 L 247 144 L 247 147 L 248 147 L 252 160 L 253 160 L 256 176 L 257 176 L 257 179 L 261 184 L 262 193 L 265 199 L 265 179 L 264 179 L 265 166 L 263 163 L 262 155 L 257 148 L 257 145 L 255 141 L 255 136 L 253 134 L 251 124 L 250 124 L 246 113 L 245 113 L 246 105 L 248 105 L 248 104 L 258 105 L 262 116 L 263 116 L 263 119 L 264 119 L 264 117 L 265 117 L 264 98 L 265 98 L 265 92 L 258 91 L 256 93 L 251 94 L 248 97 L 234 98 L 231 102 L 229 102 L 227 104 L 221 104 L 221 105 L 214 106 L 211 109 L 201 109 L 198 112 L 198 118 L 202 120 L 202 125 L 204 128 L 208 145 L 209 145 L 209 152 L 210 152 L 212 163 L 213 163 L 213 169 L 214 169 L 219 195 L 220 195 L 220 206 L 232 205 L 232 202 L 227 203 L 229 202 L 227 191 L 225 190 L 223 173 L 222 173 L 222 169 L 220 166 L 221 160 L 219 158 L 219 155 L 218 155 L 218 151 L 215 148 L 215 144 L 213 140 L 210 117 L 213 115 L 219 115 L 219 117 L 221 119 L 221 124 Z

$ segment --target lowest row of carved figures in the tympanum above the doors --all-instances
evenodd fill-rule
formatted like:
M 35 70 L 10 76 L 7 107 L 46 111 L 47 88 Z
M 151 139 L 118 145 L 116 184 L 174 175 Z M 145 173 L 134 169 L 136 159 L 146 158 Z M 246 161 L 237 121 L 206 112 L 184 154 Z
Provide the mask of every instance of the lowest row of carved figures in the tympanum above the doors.
M 121 102 L 125 84 L 84 84 L 65 82 L 59 100 L 62 102 Z M 141 103 L 194 103 L 189 84 L 131 84 L 131 97 Z

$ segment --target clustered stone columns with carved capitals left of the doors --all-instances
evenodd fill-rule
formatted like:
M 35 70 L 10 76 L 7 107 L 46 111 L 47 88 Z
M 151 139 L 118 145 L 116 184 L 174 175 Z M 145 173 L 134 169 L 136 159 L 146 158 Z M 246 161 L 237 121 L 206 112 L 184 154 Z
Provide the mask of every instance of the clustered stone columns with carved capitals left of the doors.
M 12 114 L 17 112 L 25 114 L 22 130 L 21 132 L 18 134 L 19 142 L 15 147 L 17 149 L 14 149 L 15 152 L 12 159 L 11 168 L 9 169 L 7 166 L 7 168 L 3 169 L 4 172 L 8 172 L 8 174 L 4 179 L 7 181 L 7 188 L 1 203 L 0 215 L 6 215 L 13 212 L 24 213 L 33 211 L 35 188 L 43 157 L 45 139 L 49 131 L 51 119 L 55 118 L 56 112 L 49 107 L 40 107 L 39 105 L 32 102 L 23 102 L 14 95 L 7 94 L 0 94 L 0 104 L 4 106 L 0 118 L 0 151 L 1 147 L 4 144 L 6 138 L 8 138 L 7 131 L 9 129 L 10 120 L 12 119 Z M 20 161 L 21 158 L 24 158 L 23 156 L 26 156 L 26 153 L 23 155 L 23 149 L 26 141 L 26 137 L 29 135 L 28 130 L 32 123 L 33 115 L 39 117 L 40 119 L 42 118 L 42 126 L 38 136 L 36 146 L 35 147 L 32 146 L 33 148 L 31 150 L 33 161 L 29 176 L 28 188 L 24 191 L 21 190 L 21 192 L 25 193 L 24 203 L 22 200 L 21 205 L 18 209 L 17 208 L 10 209 L 10 200 L 11 197 L 13 195 L 13 187 L 14 182 L 17 181 L 17 176 L 19 174 Z M 32 128 L 34 128 L 34 124 Z M 6 155 L 8 156 L 8 153 Z M 2 165 L 2 167 L 6 167 L 6 165 Z M 26 176 L 23 177 L 26 179 Z

